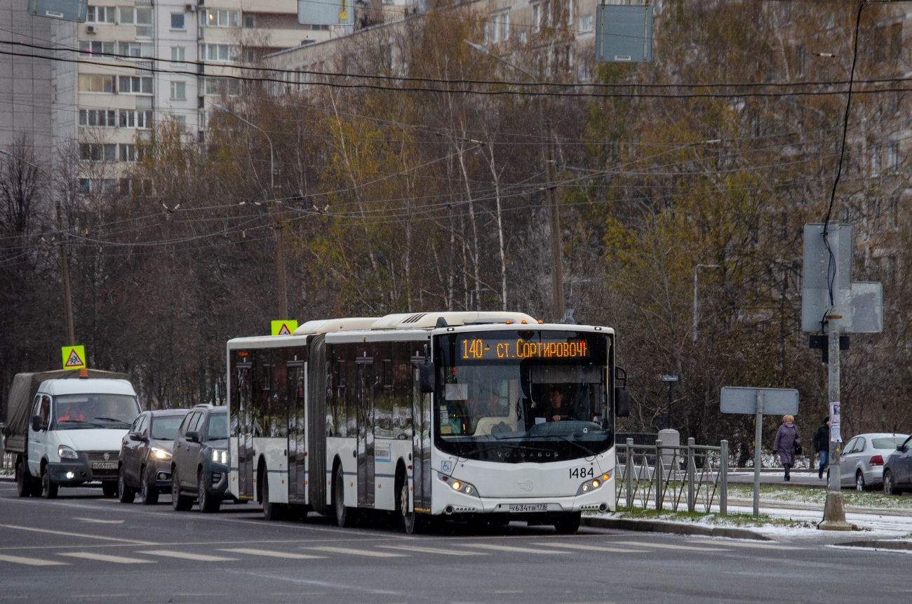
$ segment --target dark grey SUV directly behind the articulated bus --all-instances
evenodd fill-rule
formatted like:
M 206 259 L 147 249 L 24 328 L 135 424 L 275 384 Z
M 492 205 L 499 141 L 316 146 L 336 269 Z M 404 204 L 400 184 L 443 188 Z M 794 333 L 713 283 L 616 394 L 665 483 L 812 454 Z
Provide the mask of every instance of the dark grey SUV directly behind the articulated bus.
M 196 405 L 183 418 L 171 457 L 171 505 L 218 512 L 228 490 L 228 408 Z

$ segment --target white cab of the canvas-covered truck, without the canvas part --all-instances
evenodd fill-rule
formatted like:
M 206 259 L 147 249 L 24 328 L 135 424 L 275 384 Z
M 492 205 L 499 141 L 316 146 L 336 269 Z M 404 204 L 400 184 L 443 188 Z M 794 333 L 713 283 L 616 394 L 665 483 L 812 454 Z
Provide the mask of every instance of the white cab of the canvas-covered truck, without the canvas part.
M 89 482 L 117 495 L 120 441 L 139 414 L 128 380 L 42 381 L 28 422 L 26 475 L 16 468 L 26 495 L 53 498 L 60 486 Z

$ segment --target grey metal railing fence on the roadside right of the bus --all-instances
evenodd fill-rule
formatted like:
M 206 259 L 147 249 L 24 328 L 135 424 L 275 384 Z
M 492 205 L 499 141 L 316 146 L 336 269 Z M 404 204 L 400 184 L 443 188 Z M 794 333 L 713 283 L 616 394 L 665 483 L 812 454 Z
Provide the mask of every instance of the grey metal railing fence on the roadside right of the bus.
M 677 512 L 687 503 L 688 512 L 710 512 L 719 506 L 720 514 L 728 513 L 729 443 L 711 447 L 694 444 L 692 438 L 683 445 L 617 444 L 615 481 L 618 507 L 623 495 L 627 508 L 670 508 Z

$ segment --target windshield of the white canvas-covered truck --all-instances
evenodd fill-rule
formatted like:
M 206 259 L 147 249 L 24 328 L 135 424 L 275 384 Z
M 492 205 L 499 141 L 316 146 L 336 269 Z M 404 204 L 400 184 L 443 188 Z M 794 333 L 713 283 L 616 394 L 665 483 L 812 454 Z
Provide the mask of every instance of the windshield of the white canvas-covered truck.
M 58 394 L 54 397 L 57 430 L 130 428 L 140 403 L 129 394 Z

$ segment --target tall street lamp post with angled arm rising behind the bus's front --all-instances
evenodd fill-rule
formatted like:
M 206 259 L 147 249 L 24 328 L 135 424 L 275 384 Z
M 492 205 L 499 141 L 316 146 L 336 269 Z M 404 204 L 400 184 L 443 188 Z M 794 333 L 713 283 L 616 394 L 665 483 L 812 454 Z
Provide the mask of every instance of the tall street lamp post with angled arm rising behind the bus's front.
M 503 65 L 516 69 L 532 81 L 537 79 L 525 69 L 513 65 L 513 63 L 503 57 L 498 57 L 487 48 L 482 47 L 482 45 L 475 44 L 469 40 L 462 41 L 482 53 L 482 55 L 493 57 L 503 63 Z M 538 90 L 539 92 L 542 91 L 541 83 L 538 84 Z M 545 143 L 545 146 L 542 148 L 542 155 L 544 157 L 544 178 L 547 181 L 544 191 L 548 196 L 548 224 L 551 231 L 551 306 L 554 320 L 562 321 L 565 319 L 566 313 L 564 297 L 564 244 L 561 234 L 560 212 L 558 211 L 557 198 L 554 194 L 554 131 L 551 120 L 544 117 L 544 101 L 542 100 L 541 95 L 538 97 L 538 119 L 542 127 L 542 140 Z

